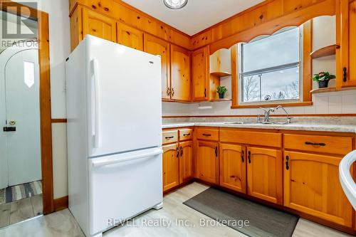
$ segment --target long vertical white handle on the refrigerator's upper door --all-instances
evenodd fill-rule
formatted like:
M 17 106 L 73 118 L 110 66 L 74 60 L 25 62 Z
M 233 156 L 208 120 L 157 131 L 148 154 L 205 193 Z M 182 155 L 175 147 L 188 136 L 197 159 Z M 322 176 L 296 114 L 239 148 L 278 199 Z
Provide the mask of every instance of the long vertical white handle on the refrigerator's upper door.
M 92 131 L 93 131 L 93 137 L 94 137 L 94 147 L 98 148 L 99 147 L 99 122 L 100 122 L 100 115 L 99 115 L 99 72 L 98 72 L 98 63 L 97 61 L 93 58 L 90 62 L 93 70 L 93 77 L 92 77 L 92 88 L 93 88 L 93 93 L 94 93 L 94 105 L 92 103 L 92 111 L 94 111 L 93 117 L 94 119 L 92 120 Z

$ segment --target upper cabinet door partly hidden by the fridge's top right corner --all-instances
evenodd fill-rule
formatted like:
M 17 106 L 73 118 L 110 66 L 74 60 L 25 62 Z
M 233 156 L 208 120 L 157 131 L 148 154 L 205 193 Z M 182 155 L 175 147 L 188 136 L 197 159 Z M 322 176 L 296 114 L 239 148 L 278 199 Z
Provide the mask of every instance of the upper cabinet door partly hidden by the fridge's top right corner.
M 151 36 L 145 33 L 143 37 L 143 48 L 146 53 L 161 56 L 162 70 L 162 99 L 169 100 L 171 98 L 171 79 L 170 79 L 170 48 L 167 41 L 162 41 L 160 38 Z

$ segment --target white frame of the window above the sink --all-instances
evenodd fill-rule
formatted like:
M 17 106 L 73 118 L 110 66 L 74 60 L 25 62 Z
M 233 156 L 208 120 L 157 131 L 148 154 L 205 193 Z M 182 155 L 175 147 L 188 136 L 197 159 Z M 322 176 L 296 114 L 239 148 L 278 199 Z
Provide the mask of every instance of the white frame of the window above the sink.
M 276 35 L 278 33 L 282 33 L 285 31 L 288 31 L 292 28 L 295 28 L 293 26 L 283 28 L 280 31 L 277 31 L 273 35 Z M 276 104 L 276 103 L 290 103 L 290 102 L 303 102 L 303 26 L 299 26 L 299 61 L 294 62 L 294 63 L 288 63 L 285 65 L 278 65 L 278 66 L 273 66 L 270 68 L 263 68 L 263 69 L 258 69 L 258 70 L 251 70 L 248 72 L 243 72 L 243 43 L 238 43 L 236 45 L 237 47 L 237 67 L 238 67 L 238 78 L 239 78 L 239 105 L 268 105 L 268 104 Z M 271 36 L 273 36 L 271 35 Z M 262 38 L 268 38 L 270 36 L 259 36 L 249 43 L 253 41 L 258 41 Z M 251 102 L 244 102 L 244 75 L 258 75 L 261 73 L 271 73 L 273 71 L 278 71 L 281 69 L 289 69 L 289 68 L 294 68 L 296 65 L 299 66 L 299 99 L 288 99 L 288 100 L 261 100 L 261 101 L 251 101 Z M 260 82 L 261 83 L 261 82 Z M 261 88 L 261 86 L 260 86 Z M 261 93 L 261 92 L 260 92 Z

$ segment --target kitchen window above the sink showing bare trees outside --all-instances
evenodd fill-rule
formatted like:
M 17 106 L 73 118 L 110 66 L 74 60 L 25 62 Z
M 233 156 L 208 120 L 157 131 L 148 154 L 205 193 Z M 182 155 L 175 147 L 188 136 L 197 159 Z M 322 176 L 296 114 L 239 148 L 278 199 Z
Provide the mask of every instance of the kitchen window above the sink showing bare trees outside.
M 240 43 L 240 104 L 299 102 L 302 98 L 301 27 Z

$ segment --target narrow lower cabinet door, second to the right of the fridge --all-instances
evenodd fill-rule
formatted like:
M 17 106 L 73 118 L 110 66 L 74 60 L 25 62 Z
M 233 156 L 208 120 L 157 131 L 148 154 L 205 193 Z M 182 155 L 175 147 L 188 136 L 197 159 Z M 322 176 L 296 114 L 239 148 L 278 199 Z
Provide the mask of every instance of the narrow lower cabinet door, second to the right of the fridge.
M 193 142 L 179 143 L 179 183 L 182 184 L 193 177 L 193 160 L 192 160 Z

